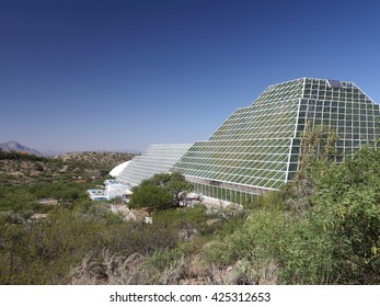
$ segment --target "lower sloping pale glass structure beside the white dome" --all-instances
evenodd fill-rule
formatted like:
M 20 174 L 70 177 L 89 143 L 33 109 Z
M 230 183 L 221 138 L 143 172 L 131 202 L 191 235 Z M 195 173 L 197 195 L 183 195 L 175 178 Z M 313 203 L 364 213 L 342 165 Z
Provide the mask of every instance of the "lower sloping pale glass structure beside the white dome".
M 192 144 L 152 144 L 141 156 L 131 159 L 116 179 L 135 186 L 157 173 L 166 173 L 191 146 Z

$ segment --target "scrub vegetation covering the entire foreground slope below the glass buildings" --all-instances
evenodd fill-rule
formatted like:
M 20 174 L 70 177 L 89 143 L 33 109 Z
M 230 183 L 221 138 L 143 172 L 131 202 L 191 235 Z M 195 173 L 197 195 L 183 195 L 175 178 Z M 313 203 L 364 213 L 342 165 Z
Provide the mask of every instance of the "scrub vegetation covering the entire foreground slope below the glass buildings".
M 177 190 L 159 189 L 170 197 L 152 224 L 91 202 L 88 183 L 3 186 L 0 284 L 379 284 L 380 150 L 366 146 L 341 164 L 331 154 L 302 157 L 292 183 L 244 209 L 179 207 Z M 140 189 L 169 180 L 149 182 Z M 45 195 L 62 201 L 31 219 Z

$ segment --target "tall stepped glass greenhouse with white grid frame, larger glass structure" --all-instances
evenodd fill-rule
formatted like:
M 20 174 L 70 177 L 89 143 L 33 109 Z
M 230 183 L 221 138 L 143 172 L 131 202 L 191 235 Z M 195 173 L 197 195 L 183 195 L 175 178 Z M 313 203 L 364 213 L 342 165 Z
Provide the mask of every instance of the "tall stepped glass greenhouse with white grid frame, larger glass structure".
M 171 171 L 183 173 L 197 193 L 244 203 L 291 180 L 308 124 L 335 130 L 337 150 L 352 155 L 380 137 L 379 105 L 353 82 L 302 78 L 270 86 L 208 140 L 195 143 Z

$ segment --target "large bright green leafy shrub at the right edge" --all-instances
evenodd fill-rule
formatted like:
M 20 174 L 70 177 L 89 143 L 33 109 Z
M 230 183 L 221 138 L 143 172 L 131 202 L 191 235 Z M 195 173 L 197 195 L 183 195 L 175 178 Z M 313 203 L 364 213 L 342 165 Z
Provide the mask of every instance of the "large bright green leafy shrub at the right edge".
M 301 284 L 380 282 L 380 151 L 365 147 L 316 182 L 313 207 L 288 248 L 283 280 Z

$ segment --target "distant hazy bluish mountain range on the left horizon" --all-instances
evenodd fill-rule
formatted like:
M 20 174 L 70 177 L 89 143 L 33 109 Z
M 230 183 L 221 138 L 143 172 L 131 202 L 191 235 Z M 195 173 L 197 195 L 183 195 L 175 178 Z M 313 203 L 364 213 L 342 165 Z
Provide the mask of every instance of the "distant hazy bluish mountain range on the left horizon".
M 15 140 L 1 143 L 0 149 L 2 151 L 25 152 L 25 154 L 35 155 L 38 157 L 54 157 L 54 156 L 65 155 L 68 152 L 68 151 L 53 151 L 53 150 L 38 151 L 34 148 L 22 145 Z M 130 149 L 130 150 L 129 149 L 122 149 L 122 150 L 104 150 L 104 149 L 102 149 L 102 150 L 87 150 L 87 151 L 125 152 L 125 154 L 140 154 L 141 152 L 141 151 L 134 150 L 134 149 Z

